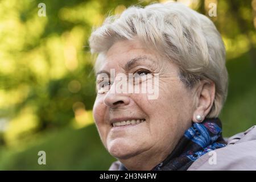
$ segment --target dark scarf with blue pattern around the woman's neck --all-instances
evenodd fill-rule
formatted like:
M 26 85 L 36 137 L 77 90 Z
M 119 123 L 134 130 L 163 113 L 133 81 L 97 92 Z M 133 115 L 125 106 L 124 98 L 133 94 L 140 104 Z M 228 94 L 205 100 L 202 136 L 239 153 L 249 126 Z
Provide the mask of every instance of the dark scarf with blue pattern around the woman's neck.
M 207 152 L 225 147 L 226 142 L 222 138 L 221 127 L 221 121 L 218 118 L 206 118 L 201 123 L 192 123 L 171 154 L 152 170 L 184 171 Z M 119 170 L 127 169 L 121 165 Z

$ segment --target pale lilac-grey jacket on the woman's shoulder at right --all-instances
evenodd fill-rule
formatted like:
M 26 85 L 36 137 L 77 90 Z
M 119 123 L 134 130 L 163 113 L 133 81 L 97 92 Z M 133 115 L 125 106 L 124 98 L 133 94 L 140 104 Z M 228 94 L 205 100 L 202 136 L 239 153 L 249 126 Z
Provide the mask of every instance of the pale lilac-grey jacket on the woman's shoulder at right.
M 230 137 L 226 147 L 201 156 L 188 170 L 256 170 L 256 126 Z

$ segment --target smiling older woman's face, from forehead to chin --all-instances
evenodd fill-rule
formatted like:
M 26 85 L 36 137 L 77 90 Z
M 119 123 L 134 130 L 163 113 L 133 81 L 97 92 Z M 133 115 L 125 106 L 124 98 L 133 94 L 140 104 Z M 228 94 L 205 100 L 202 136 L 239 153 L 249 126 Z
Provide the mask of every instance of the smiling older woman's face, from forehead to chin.
M 135 156 L 166 158 L 192 121 L 191 92 L 179 80 L 177 66 L 145 49 L 137 40 L 116 42 L 98 61 L 100 87 L 102 72 L 110 73 L 110 69 L 114 69 L 115 75 L 127 76 L 159 73 L 159 82 L 153 85 L 159 89 L 156 99 L 149 100 L 148 94 L 141 92 L 110 92 L 114 85 L 109 92 L 97 94 L 93 116 L 104 146 L 121 161 Z M 129 121 L 128 125 L 122 121 Z

